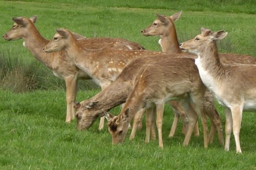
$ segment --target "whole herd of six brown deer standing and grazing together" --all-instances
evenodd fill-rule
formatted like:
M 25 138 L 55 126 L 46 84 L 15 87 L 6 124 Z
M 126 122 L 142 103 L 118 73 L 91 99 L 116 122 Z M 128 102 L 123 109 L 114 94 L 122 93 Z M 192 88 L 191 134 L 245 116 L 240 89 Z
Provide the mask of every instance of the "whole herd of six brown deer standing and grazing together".
M 181 13 L 157 14 L 157 19 L 141 31 L 144 36 L 160 36 L 162 52 L 147 51 L 122 38 L 86 38 L 62 28 L 56 29 L 49 41 L 34 25 L 37 16 L 13 17 L 14 24 L 3 38 L 22 38 L 23 45 L 37 60 L 65 80 L 66 122 L 77 117 L 78 130 L 89 129 L 97 117 L 101 130 L 106 118 L 112 143 L 121 143 L 132 119 L 130 139 L 135 137 L 145 113 L 145 142 L 156 138 L 156 126 L 159 147 L 163 148 L 163 112 L 167 102 L 174 112 L 170 138 L 181 117 L 183 145 L 188 145 L 193 132 L 199 135 L 200 116 L 205 148 L 217 131 L 219 142 L 225 141 L 225 150 L 229 151 L 232 131 L 236 151 L 242 153 L 242 112 L 256 109 L 256 58 L 218 53 L 217 41 L 227 35 L 224 30 L 212 32 L 201 28 L 201 34 L 179 44 L 174 21 Z M 79 79 L 92 79 L 102 91 L 76 103 Z M 225 108 L 225 140 L 215 100 Z M 119 115 L 108 112 L 121 104 Z M 211 123 L 209 133 L 207 117 Z

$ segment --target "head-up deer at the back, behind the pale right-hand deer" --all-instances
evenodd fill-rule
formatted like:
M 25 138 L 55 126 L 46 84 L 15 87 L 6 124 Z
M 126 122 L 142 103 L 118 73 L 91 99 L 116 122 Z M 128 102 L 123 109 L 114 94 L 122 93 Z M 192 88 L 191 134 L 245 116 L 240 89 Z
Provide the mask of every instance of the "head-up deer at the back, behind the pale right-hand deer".
M 184 51 L 181 50 L 179 47 L 179 41 L 177 38 L 177 32 L 175 28 L 174 22 L 180 18 L 182 11 L 173 14 L 172 16 L 166 16 L 166 15 L 160 15 L 157 14 L 157 19 L 153 21 L 153 23 L 148 26 L 147 28 L 143 29 L 141 33 L 144 36 L 160 36 L 159 44 L 161 45 L 162 52 L 166 54 L 172 54 L 172 53 L 184 53 Z M 193 58 L 196 58 L 195 56 L 192 56 Z M 220 54 L 219 55 L 220 60 L 222 63 L 229 64 L 229 63 L 241 63 L 241 64 L 256 64 L 256 58 L 248 55 L 238 55 L 238 54 Z M 207 114 L 208 116 L 215 115 L 216 120 L 215 123 L 220 123 L 219 113 L 217 112 L 214 105 L 211 105 L 213 102 L 212 94 L 206 90 L 205 93 L 205 105 L 206 105 L 206 114 L 215 111 L 215 114 Z M 207 101 L 208 100 L 208 101 Z M 179 115 L 176 114 L 175 121 L 178 122 Z M 211 124 L 214 125 L 214 124 Z M 173 124 L 172 129 L 169 133 L 169 137 L 173 137 L 175 133 L 177 124 Z M 218 125 L 217 125 L 218 127 Z M 213 140 L 215 127 L 211 127 L 211 131 L 209 133 L 209 142 L 211 143 Z

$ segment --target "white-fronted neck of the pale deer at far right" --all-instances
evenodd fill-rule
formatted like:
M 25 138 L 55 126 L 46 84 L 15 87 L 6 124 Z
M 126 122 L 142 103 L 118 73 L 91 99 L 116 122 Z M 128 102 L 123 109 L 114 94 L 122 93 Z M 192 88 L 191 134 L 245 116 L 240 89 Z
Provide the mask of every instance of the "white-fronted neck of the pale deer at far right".
M 197 55 L 195 64 L 198 67 L 200 77 L 208 89 L 215 91 L 225 76 L 225 69 L 220 62 L 216 41 L 206 44 L 206 47 Z

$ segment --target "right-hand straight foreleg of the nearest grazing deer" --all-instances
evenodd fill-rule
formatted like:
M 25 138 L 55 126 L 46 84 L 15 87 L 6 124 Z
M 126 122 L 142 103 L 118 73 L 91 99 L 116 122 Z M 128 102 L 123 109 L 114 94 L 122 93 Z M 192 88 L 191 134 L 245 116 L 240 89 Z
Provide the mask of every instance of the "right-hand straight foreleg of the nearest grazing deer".
M 163 148 L 163 138 L 162 138 L 162 124 L 163 124 L 163 111 L 164 111 L 164 103 L 156 104 L 157 109 L 157 130 L 158 130 L 158 142 L 159 147 Z

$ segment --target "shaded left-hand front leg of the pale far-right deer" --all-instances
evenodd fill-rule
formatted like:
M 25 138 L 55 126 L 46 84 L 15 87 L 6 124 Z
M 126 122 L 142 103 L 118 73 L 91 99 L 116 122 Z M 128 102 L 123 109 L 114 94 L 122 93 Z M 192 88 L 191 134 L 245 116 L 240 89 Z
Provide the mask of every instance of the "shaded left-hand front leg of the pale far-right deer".
M 230 137 L 231 137 L 231 131 L 232 131 L 232 114 L 231 110 L 229 108 L 225 108 L 225 114 L 226 114 L 226 124 L 225 124 L 225 151 L 229 151 L 229 143 L 230 143 Z

